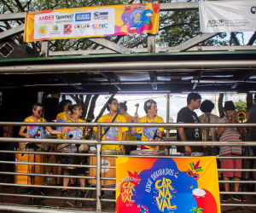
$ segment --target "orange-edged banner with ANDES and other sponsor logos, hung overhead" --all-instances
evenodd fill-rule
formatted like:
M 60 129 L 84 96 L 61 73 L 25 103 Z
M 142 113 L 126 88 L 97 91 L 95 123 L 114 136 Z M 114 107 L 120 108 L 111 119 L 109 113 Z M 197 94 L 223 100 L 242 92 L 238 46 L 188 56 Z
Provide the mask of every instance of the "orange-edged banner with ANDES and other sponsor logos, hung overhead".
M 52 9 L 26 13 L 24 41 L 108 37 L 159 30 L 159 3 Z

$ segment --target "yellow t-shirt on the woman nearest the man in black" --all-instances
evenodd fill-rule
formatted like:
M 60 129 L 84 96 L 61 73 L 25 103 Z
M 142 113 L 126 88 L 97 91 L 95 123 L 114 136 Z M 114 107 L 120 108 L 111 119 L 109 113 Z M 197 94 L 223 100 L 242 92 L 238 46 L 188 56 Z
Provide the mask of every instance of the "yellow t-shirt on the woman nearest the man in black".
M 138 120 L 138 123 L 164 123 L 163 118 L 160 118 L 159 116 L 155 116 L 154 119 L 149 120 L 147 116 L 144 116 L 143 118 L 140 118 Z M 164 128 L 160 127 L 138 127 L 137 132 L 142 132 L 142 141 L 157 141 L 157 137 L 154 138 L 154 135 L 157 133 L 157 131 L 163 132 Z M 142 149 L 154 149 L 154 146 L 142 146 Z

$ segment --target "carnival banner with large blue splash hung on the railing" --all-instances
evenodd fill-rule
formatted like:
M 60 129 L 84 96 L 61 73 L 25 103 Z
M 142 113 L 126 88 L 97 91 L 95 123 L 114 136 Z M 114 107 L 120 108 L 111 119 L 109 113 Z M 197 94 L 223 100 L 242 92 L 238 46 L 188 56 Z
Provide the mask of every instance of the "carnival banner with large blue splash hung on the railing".
M 216 158 L 118 157 L 116 212 L 220 213 Z

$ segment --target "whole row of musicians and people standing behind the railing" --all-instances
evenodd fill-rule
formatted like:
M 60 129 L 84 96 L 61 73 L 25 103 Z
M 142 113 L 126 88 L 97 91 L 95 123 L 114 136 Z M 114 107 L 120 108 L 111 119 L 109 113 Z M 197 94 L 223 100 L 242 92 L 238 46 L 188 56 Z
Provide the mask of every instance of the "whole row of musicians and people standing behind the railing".
M 256 95 L 254 95 L 254 101 L 256 103 Z M 201 109 L 203 114 L 198 117 L 195 113 L 195 109 Z M 217 115 L 212 114 L 212 109 L 214 104 L 212 101 L 206 100 L 201 103 L 201 95 L 198 93 L 189 93 L 187 97 L 187 106 L 183 107 L 177 113 L 177 123 L 183 124 L 198 124 L 198 123 L 238 123 L 236 119 L 236 108 L 233 101 L 224 102 L 224 118 L 218 118 Z M 111 98 L 108 101 L 108 113 L 102 115 L 101 118 L 97 120 L 99 123 L 164 123 L 163 118 L 157 115 L 157 103 L 154 100 L 147 100 L 144 102 L 143 109 L 145 111 L 144 116 L 139 116 L 136 112 L 134 116 L 127 113 L 126 102 L 119 103 L 115 98 Z M 25 118 L 24 122 L 46 122 L 42 118 L 42 113 L 44 112 L 44 107 L 36 103 L 32 106 L 32 115 Z M 71 122 L 71 123 L 84 123 L 85 120 L 82 119 L 82 107 L 79 105 L 72 105 L 71 101 L 61 101 L 60 112 L 56 116 L 56 122 Z M 256 104 L 251 107 L 248 112 L 249 119 L 248 122 L 256 123 Z M 56 135 L 58 139 L 76 139 L 84 140 L 90 138 L 90 131 L 87 126 L 81 127 L 57 127 L 53 130 L 49 126 L 21 126 L 19 135 L 25 138 L 45 138 L 45 130 L 51 135 Z M 137 135 L 141 134 L 141 141 L 163 141 L 165 132 L 164 128 L 160 127 L 102 127 L 101 134 L 98 134 L 98 128 L 94 127 L 92 130 L 93 137 L 98 140 L 103 141 L 137 141 Z M 4 129 L 4 134 L 12 135 L 12 129 L 6 127 Z M 99 137 L 102 138 L 99 138 Z M 225 141 L 225 142 L 236 142 L 242 141 L 245 138 L 248 141 L 256 141 L 256 128 L 252 128 L 248 131 L 245 128 L 234 128 L 234 127 L 219 127 L 219 128 L 200 128 L 200 127 L 178 127 L 177 128 L 177 141 Z M 35 145 L 33 145 L 35 146 Z M 33 148 L 30 143 L 20 143 L 19 148 Z M 38 144 L 40 147 L 40 144 Z M 41 144 L 41 147 L 44 147 Z M 89 149 L 87 145 L 77 145 L 71 143 L 64 143 L 57 147 L 57 151 L 61 153 L 81 153 Z M 137 149 L 137 146 L 124 146 L 119 145 L 102 145 L 102 150 L 113 150 L 118 153 L 129 154 L 132 150 Z M 154 154 L 160 152 L 160 150 L 165 150 L 165 146 L 152 146 L 143 145 L 140 146 L 141 150 L 148 151 L 148 154 Z M 177 147 L 177 153 L 181 153 L 183 156 L 223 156 L 223 157 L 241 157 L 243 155 L 242 147 L 218 147 L 218 143 L 215 146 L 179 146 Z M 253 153 L 256 156 L 256 148 L 253 147 Z M 61 158 L 58 159 L 58 163 L 62 164 L 76 164 L 80 163 L 79 158 Z M 222 158 L 221 159 L 222 169 L 241 169 L 242 160 L 241 158 Z M 256 168 L 256 160 L 254 160 L 254 168 Z M 63 173 L 66 176 L 70 175 L 70 168 L 58 167 L 57 174 L 61 175 Z M 84 170 L 79 170 L 80 176 L 84 176 Z M 231 179 L 235 181 L 241 180 L 241 171 L 224 171 L 222 172 L 223 180 L 230 181 Z M 253 172 L 253 178 L 256 180 L 256 172 Z M 56 181 L 57 184 L 61 184 L 61 178 Z M 74 184 L 73 178 L 63 178 L 63 187 L 61 191 L 62 196 L 67 195 L 68 184 Z M 85 179 L 81 178 L 79 180 L 80 186 L 85 187 Z M 235 192 L 239 192 L 239 183 L 234 184 Z M 256 192 L 256 184 L 254 187 Z M 230 183 L 224 183 L 224 191 L 230 192 Z M 81 192 L 81 196 L 84 196 L 84 192 Z M 233 199 L 236 202 L 241 202 L 241 195 L 235 194 L 230 196 L 230 194 L 224 194 L 222 201 L 225 203 L 230 202 Z

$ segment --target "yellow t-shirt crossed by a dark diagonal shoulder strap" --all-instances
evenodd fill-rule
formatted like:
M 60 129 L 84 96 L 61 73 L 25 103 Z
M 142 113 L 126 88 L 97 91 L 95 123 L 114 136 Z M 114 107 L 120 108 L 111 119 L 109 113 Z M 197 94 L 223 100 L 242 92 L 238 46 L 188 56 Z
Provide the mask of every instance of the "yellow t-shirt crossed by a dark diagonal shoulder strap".
M 108 114 L 102 115 L 101 118 L 98 119 L 98 123 L 111 123 L 113 117 L 108 116 Z M 113 123 L 126 123 L 125 117 L 122 115 L 118 115 Z M 108 127 L 102 128 L 102 135 Z M 94 131 L 97 132 L 97 127 L 93 128 Z M 110 127 L 108 132 L 103 136 L 102 141 L 122 141 L 123 140 L 123 132 L 128 131 L 127 127 Z M 102 150 L 119 150 L 119 145 L 103 145 Z

